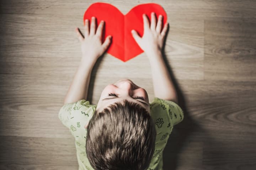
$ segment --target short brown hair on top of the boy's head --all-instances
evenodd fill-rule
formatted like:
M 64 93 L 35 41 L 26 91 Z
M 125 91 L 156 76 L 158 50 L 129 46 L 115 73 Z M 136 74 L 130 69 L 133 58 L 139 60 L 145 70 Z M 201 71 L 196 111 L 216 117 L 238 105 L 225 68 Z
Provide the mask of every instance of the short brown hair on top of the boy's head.
M 87 127 L 86 154 L 95 170 L 145 170 L 155 151 L 149 112 L 124 100 L 94 112 Z

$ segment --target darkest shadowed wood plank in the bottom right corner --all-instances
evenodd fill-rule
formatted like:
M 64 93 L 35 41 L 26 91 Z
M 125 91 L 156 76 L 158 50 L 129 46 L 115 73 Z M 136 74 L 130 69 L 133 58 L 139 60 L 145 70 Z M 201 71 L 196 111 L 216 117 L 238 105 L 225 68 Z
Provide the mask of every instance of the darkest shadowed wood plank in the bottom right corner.
M 208 167 L 207 169 L 240 168 L 246 170 L 256 168 L 254 164 L 256 160 L 255 133 L 243 135 L 233 131 L 230 134 L 220 132 L 211 133 L 211 135 L 214 136 L 214 140 L 208 140 L 203 145 L 204 167 Z M 218 140 L 215 136 L 219 136 L 221 139 Z M 251 136 L 251 140 L 247 139 L 248 136 Z

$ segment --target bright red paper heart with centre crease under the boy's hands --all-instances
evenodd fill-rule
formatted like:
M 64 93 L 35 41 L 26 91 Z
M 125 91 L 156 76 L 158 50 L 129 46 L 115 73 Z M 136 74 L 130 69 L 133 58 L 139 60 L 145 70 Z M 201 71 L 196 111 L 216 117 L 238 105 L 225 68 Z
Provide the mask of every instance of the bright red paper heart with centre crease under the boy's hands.
M 142 15 L 145 13 L 150 23 L 151 12 L 155 12 L 156 19 L 158 19 L 159 15 L 162 15 L 163 23 L 166 23 L 167 15 L 164 9 L 158 4 L 149 3 L 137 5 L 126 15 L 123 15 L 118 8 L 111 4 L 96 2 L 90 5 L 85 11 L 84 25 L 85 19 L 90 20 L 92 16 L 96 17 L 96 26 L 98 26 L 101 20 L 105 21 L 105 31 L 103 30 L 102 33 L 102 42 L 104 42 L 108 35 L 112 35 L 112 42 L 106 52 L 126 62 L 144 52 L 134 40 L 131 30 L 136 30 L 140 37 L 142 37 L 144 31 Z

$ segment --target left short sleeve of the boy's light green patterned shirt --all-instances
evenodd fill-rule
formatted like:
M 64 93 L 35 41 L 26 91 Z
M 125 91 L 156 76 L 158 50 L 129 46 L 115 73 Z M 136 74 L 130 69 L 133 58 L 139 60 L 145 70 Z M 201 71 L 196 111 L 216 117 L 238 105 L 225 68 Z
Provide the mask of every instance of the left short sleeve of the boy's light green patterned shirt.
M 92 105 L 84 99 L 74 103 L 66 103 L 59 110 L 59 120 L 64 126 L 75 131 L 90 121 L 95 109 L 96 105 Z

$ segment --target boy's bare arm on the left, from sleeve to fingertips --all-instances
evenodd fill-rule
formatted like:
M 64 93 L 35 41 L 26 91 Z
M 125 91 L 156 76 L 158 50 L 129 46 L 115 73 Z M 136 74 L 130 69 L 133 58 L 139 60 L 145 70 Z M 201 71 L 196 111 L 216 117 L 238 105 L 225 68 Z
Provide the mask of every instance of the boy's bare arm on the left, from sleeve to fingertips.
M 81 42 L 82 58 L 69 87 L 68 93 L 64 99 L 64 104 L 73 103 L 82 99 L 87 100 L 91 70 L 98 57 L 100 57 L 110 45 L 111 36 L 108 36 L 103 44 L 101 42 L 103 22 L 99 24 L 97 30 L 95 27 L 95 17 L 92 17 L 90 32 L 89 21 L 88 19 L 85 20 L 85 38 L 81 35 L 78 28 L 76 28 L 76 33 L 78 34 L 78 38 Z

